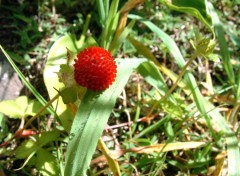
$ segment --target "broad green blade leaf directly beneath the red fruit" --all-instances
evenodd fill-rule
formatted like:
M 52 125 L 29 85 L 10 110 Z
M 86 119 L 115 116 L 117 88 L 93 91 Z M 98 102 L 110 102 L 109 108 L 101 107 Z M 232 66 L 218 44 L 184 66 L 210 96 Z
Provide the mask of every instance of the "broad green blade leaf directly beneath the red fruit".
M 117 60 L 118 72 L 113 85 L 97 95 L 87 91 L 74 119 L 66 155 L 65 175 L 86 175 L 98 139 L 108 121 L 116 99 L 134 68 L 145 59 Z M 97 95 L 97 96 L 96 96 Z

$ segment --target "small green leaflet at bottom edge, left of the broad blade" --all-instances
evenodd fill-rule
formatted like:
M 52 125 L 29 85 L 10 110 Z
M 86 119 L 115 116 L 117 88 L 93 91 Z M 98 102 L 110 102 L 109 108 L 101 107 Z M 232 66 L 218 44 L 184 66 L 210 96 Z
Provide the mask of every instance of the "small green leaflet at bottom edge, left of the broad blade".
M 37 151 L 36 167 L 42 175 L 58 175 L 59 167 L 56 157 L 44 149 Z

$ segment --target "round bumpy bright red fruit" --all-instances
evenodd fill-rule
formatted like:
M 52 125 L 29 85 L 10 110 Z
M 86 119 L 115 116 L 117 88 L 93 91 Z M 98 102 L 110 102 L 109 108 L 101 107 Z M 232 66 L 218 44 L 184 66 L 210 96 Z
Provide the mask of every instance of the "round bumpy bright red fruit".
M 84 49 L 75 59 L 75 81 L 93 91 L 107 89 L 114 82 L 116 72 L 117 66 L 114 58 L 100 47 Z

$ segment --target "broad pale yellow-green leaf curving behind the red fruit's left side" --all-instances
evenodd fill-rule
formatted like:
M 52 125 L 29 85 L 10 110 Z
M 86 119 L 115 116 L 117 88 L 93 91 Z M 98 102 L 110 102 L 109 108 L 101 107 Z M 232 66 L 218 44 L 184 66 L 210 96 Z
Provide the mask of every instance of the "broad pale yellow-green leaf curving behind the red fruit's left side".
M 56 90 L 61 90 L 64 87 L 64 84 L 59 81 L 56 73 L 59 72 L 61 64 L 67 64 L 66 47 L 72 52 L 78 53 L 82 46 L 83 43 L 78 41 L 75 36 L 65 35 L 59 38 L 51 47 L 43 72 L 44 83 L 51 99 L 58 94 Z M 62 98 L 53 102 L 53 107 L 56 108 L 56 113 L 65 130 L 70 131 L 73 114 L 63 103 Z

